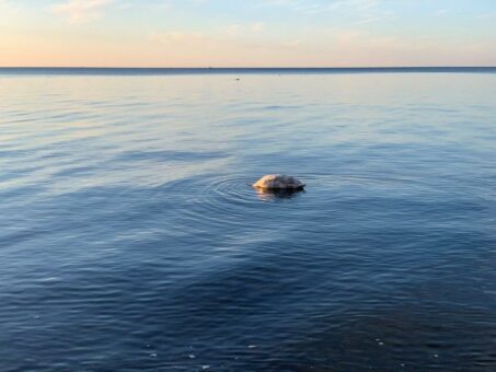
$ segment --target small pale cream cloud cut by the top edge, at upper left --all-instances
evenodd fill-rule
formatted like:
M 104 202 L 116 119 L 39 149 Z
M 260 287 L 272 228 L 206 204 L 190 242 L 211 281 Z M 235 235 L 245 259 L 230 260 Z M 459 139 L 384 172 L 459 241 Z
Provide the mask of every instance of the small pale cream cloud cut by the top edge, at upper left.
M 55 14 L 67 18 L 70 23 L 83 23 L 102 15 L 104 9 L 115 0 L 68 0 L 51 7 Z

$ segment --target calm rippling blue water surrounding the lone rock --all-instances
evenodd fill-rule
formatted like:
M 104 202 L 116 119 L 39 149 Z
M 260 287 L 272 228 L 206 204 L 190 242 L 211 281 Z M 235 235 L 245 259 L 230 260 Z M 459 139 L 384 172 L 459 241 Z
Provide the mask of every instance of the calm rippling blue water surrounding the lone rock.
M 59 72 L 0 71 L 0 370 L 496 369 L 495 71 Z

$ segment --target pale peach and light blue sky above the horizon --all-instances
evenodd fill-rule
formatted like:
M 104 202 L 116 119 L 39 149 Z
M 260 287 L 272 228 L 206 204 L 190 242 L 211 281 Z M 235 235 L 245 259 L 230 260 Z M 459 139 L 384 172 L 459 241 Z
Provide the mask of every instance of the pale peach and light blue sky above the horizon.
M 496 0 L 0 0 L 0 66 L 496 66 Z

